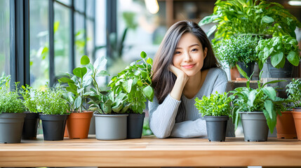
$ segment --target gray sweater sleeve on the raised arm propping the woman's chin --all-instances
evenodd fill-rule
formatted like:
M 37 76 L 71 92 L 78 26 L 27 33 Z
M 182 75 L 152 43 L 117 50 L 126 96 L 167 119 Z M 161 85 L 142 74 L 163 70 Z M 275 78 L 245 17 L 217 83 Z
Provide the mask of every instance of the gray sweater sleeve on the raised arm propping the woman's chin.
M 169 94 L 162 104 L 158 103 L 156 97 L 149 102 L 149 127 L 156 137 L 170 137 L 180 103 Z

